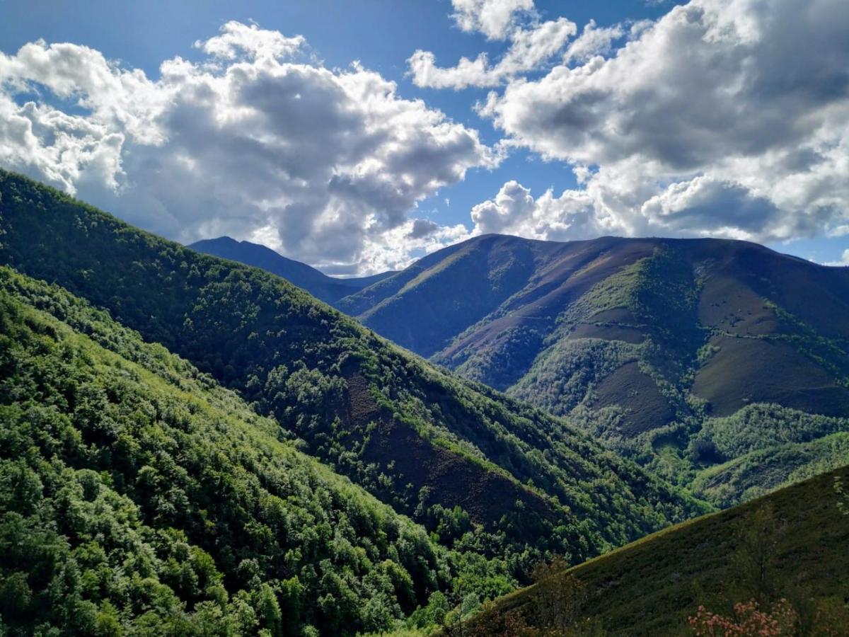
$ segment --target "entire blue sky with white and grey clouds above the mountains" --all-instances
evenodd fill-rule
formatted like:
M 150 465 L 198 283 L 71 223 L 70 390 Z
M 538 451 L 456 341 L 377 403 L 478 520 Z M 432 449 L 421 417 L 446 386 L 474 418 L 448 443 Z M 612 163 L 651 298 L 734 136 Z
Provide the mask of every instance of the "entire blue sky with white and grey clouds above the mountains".
M 337 275 L 498 232 L 849 265 L 846 0 L 0 0 L 0 166 Z

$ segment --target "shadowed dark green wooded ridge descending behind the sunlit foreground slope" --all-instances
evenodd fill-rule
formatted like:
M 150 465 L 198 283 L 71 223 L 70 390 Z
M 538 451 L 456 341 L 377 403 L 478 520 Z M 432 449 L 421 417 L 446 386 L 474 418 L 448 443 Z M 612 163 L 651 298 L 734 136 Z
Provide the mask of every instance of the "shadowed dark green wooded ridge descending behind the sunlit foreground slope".
M 0 173 L 0 258 L 105 307 L 447 546 L 525 578 L 705 510 L 564 421 L 460 381 L 284 279 Z

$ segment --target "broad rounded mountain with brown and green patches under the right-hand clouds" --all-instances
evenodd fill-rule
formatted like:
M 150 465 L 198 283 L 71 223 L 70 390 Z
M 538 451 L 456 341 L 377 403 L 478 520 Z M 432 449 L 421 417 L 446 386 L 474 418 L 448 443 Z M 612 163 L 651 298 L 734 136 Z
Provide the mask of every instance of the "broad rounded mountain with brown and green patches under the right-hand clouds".
M 337 307 L 719 505 L 849 459 L 849 268 L 733 240 L 485 235 Z

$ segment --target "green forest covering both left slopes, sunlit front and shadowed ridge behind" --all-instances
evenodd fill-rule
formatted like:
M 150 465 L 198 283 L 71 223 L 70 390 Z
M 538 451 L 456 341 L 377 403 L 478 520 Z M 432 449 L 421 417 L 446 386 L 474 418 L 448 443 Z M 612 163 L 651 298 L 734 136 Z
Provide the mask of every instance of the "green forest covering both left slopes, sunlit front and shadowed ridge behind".
M 25 545 L 4 572 L 20 589 L 12 630 L 424 626 L 528 583 L 551 555 L 582 561 L 709 509 L 283 279 L 8 173 L 0 194 L 7 262 L 106 308 L 3 270 L 4 475 L 25 489 L 4 500 L 8 546 L 34 531 L 57 546 L 45 563 Z M 80 528 L 57 526 L 68 510 Z M 101 541 L 104 521 L 121 528 Z M 117 538 L 131 535 L 149 564 L 127 563 Z M 63 578 L 78 608 L 54 605 Z M 134 585 L 157 591 L 149 604 L 133 606 Z

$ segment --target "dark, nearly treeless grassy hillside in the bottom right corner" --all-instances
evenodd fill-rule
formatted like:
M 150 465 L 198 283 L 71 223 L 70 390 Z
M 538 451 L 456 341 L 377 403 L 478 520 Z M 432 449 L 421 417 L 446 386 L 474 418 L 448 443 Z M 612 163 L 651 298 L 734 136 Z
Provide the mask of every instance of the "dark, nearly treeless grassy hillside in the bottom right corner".
M 796 631 L 752 622 L 748 631 L 725 632 L 716 622 L 713 632 L 698 634 L 847 634 L 849 516 L 837 506 L 835 478 L 849 482 L 849 467 L 557 573 L 497 600 L 466 623 L 462 634 L 563 634 L 531 631 L 556 630 L 557 620 L 573 610 L 589 622 L 585 632 L 568 634 L 599 634 L 589 626 L 622 637 L 696 634 L 688 617 L 696 616 L 699 606 L 734 617 L 734 603 L 781 598 L 801 619 Z M 762 603 L 763 612 L 768 608 L 768 601 Z M 553 609 L 564 613 L 558 616 Z M 449 627 L 443 634 L 461 633 Z

